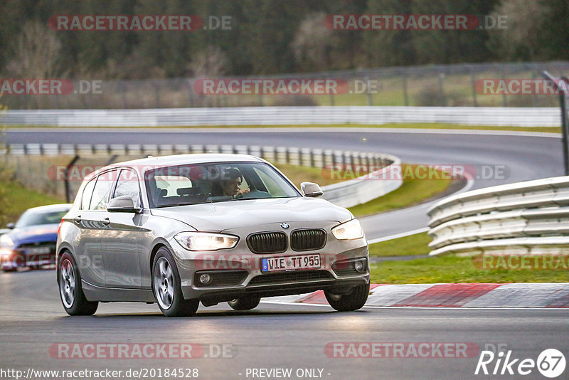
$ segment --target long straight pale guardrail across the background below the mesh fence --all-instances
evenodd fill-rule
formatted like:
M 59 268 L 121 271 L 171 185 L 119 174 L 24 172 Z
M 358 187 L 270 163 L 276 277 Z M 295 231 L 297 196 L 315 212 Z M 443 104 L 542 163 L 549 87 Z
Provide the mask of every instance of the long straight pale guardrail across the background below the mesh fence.
M 555 107 L 220 107 L 149 110 L 9 110 L 1 125 L 58 127 L 181 127 L 199 125 L 319 125 L 447 123 L 559 127 Z

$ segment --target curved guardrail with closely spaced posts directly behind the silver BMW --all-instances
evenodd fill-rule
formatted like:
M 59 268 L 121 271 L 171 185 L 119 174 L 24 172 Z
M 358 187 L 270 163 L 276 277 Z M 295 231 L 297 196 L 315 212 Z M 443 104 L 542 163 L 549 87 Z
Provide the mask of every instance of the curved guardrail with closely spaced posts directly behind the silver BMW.
M 0 154 L 11 156 L 144 156 L 193 153 L 250 154 L 276 164 L 293 164 L 304 167 L 346 168 L 364 166 L 383 168 L 369 176 L 338 184 L 323 186 L 323 198 L 344 207 L 363 204 L 403 184 L 402 179 L 372 180 L 383 178 L 381 172 L 389 170 L 390 165 L 400 165 L 401 160 L 390 154 L 344 152 L 331 149 L 310 149 L 297 147 L 261 147 L 247 145 L 198 145 L 198 144 L 8 144 Z M 353 170 L 357 172 L 357 170 Z

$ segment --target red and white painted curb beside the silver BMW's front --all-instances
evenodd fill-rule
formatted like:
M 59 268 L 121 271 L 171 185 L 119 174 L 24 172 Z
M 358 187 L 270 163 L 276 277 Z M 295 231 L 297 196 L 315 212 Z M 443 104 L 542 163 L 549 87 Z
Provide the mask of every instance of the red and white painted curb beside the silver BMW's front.
M 328 305 L 321 290 L 262 300 Z M 569 283 L 371 284 L 366 306 L 569 308 Z

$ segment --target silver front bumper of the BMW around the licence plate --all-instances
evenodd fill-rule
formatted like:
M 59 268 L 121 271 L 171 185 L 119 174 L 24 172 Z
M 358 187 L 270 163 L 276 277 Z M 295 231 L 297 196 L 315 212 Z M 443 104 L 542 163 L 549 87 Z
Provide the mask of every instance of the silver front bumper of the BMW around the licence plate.
M 317 290 L 334 293 L 351 291 L 351 287 L 369 283 L 369 253 L 365 238 L 357 241 L 336 242 L 331 248 L 296 252 L 287 250 L 278 256 L 297 256 L 319 253 L 321 268 L 263 272 L 262 258 L 275 255 L 257 255 L 250 250 L 225 250 L 209 253 L 190 253 L 172 242 L 174 256 L 181 278 L 181 290 L 186 299 L 201 300 L 204 305 L 233 300 L 238 297 L 273 297 L 297 295 Z M 339 244 L 348 250 L 338 252 Z M 336 252 L 333 252 L 336 250 Z M 350 263 L 364 260 L 361 272 L 351 270 Z M 208 273 L 213 277 L 210 285 L 200 285 L 198 278 Z

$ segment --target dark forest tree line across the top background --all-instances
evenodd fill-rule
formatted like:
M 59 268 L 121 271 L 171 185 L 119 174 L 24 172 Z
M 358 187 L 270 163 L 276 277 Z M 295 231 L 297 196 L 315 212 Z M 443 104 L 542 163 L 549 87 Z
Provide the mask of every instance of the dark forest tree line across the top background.
M 54 15 L 229 17 L 198 31 L 57 31 Z M 331 14 L 506 16 L 506 28 L 334 30 Z M 211 17 L 211 19 L 210 19 Z M 211 26 L 211 25 L 210 25 Z M 2 0 L 4 78 L 274 75 L 399 65 L 568 60 L 568 0 Z

